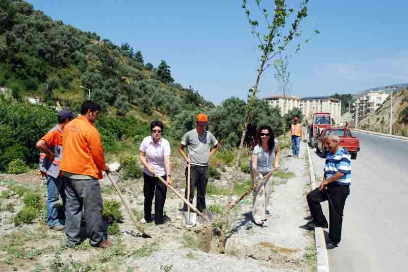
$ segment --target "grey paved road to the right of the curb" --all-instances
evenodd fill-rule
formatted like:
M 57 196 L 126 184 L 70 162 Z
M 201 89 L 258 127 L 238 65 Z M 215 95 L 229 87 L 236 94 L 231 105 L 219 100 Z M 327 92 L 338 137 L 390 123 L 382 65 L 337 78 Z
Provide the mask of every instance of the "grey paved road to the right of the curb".
M 354 133 L 361 151 L 351 161 L 342 241 L 329 251 L 331 271 L 406 271 L 408 142 Z M 316 175 L 324 159 L 313 153 Z M 323 205 L 328 219 L 327 205 Z M 328 231 L 328 229 L 327 229 Z

